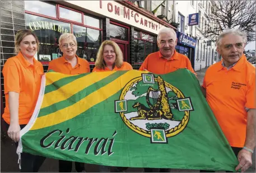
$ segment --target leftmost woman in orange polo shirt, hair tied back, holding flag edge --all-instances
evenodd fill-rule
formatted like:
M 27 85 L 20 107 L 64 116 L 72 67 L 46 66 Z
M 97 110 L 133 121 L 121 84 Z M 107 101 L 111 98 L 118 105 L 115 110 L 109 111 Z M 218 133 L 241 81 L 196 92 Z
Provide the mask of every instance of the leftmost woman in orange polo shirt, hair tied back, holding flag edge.
M 8 58 L 3 66 L 6 107 L 3 119 L 8 136 L 18 146 L 20 130 L 34 112 L 41 86 L 43 65 L 34 58 L 39 41 L 31 30 L 19 30 L 15 36 L 16 56 Z M 21 172 L 38 172 L 45 157 L 21 153 Z

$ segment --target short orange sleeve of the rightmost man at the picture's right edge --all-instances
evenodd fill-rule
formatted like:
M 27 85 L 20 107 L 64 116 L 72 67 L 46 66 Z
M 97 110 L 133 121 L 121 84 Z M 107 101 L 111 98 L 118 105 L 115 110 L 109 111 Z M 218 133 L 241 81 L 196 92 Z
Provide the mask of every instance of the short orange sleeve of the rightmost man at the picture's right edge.
M 255 109 L 255 73 L 251 74 L 250 81 L 248 82 L 248 90 L 246 92 L 245 107 Z

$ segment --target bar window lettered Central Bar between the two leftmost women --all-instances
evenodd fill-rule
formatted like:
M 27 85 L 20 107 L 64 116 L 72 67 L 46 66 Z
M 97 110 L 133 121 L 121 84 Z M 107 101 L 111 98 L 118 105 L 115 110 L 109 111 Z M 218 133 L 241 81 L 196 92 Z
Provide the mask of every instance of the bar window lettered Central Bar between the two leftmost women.
M 71 32 L 71 26 L 66 22 L 29 14 L 26 14 L 26 29 L 34 31 L 38 36 L 40 50 L 35 58 L 41 62 L 49 62 L 61 57 L 58 46 L 59 37 L 66 32 Z

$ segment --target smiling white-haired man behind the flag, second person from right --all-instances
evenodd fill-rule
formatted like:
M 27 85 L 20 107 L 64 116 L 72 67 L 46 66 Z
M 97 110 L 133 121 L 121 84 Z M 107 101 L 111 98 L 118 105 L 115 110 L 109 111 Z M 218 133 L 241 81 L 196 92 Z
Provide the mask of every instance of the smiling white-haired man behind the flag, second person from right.
M 141 64 L 139 70 L 147 70 L 156 74 L 166 74 L 174 72 L 179 68 L 187 68 L 196 74 L 188 57 L 176 52 L 175 46 L 177 41 L 176 32 L 173 29 L 161 27 L 157 35 L 159 51 L 149 54 Z

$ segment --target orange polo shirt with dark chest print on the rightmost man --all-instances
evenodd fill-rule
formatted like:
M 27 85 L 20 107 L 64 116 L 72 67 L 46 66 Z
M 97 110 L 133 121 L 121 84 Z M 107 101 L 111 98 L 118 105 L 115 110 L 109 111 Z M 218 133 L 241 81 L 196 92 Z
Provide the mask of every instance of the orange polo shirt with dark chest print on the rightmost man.
M 255 109 L 255 67 L 245 55 L 229 70 L 218 62 L 207 69 L 202 87 L 230 146 L 244 147 L 245 107 Z

